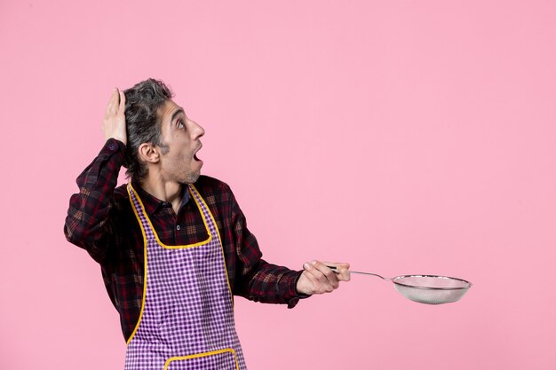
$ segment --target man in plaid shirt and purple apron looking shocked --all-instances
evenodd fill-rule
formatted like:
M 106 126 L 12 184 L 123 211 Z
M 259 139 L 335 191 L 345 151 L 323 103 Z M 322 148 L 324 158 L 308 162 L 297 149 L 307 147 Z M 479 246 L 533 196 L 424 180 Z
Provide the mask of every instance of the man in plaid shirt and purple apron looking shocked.
M 152 79 L 114 91 L 64 232 L 101 266 L 126 369 L 245 369 L 232 296 L 293 308 L 349 280 L 349 265 L 296 272 L 261 259 L 230 188 L 201 176 L 203 128 L 171 98 Z M 116 187 L 123 165 L 131 181 Z

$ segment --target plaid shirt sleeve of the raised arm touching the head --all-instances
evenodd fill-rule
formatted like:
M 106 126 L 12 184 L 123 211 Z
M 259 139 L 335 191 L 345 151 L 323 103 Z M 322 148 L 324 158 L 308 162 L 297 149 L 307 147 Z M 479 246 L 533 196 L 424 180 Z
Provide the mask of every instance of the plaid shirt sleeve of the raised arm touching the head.
M 73 194 L 69 200 L 64 224 L 66 239 L 86 249 L 99 263 L 107 255 L 112 240 L 114 225 L 109 213 L 124 151 L 125 145 L 121 141 L 109 138 L 99 155 L 77 177 L 79 193 Z

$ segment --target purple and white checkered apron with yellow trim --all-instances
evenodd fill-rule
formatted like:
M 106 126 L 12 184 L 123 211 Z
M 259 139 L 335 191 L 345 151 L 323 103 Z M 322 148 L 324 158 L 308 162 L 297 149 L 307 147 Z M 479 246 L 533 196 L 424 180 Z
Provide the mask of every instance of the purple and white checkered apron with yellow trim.
M 195 186 L 189 185 L 188 190 L 209 238 L 187 246 L 166 246 L 128 184 L 145 240 L 145 279 L 125 370 L 246 369 L 218 230 Z

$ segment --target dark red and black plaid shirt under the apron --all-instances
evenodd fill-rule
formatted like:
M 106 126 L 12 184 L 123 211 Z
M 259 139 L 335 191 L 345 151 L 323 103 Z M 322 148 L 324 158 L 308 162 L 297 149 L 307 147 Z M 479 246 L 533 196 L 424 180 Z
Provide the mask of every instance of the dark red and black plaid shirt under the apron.
M 127 340 L 141 309 L 144 240 L 125 185 L 115 187 L 124 151 L 122 142 L 108 139 L 97 158 L 77 177 L 79 193 L 69 201 L 64 232 L 70 242 L 86 249 L 100 264 Z M 189 201 L 186 186 L 176 215 L 171 203 L 156 199 L 139 184 L 132 185 L 164 244 L 188 245 L 207 239 L 201 212 L 194 201 Z M 261 259 L 257 240 L 247 229 L 245 216 L 228 185 L 202 176 L 195 188 L 215 218 L 234 295 L 255 302 L 287 303 L 293 308 L 303 297 L 296 290 L 301 272 Z

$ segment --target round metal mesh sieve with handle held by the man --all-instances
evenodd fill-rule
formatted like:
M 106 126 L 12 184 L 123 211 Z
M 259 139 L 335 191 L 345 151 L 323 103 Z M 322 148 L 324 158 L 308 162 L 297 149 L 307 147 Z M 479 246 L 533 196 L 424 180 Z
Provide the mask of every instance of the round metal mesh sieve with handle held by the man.
M 333 272 L 336 267 L 329 266 Z M 395 278 L 384 278 L 376 273 L 353 272 L 361 275 L 377 276 L 383 280 L 391 280 L 401 295 L 418 303 L 442 304 L 456 302 L 467 293 L 472 286 L 464 279 L 449 278 L 438 275 L 402 275 Z

